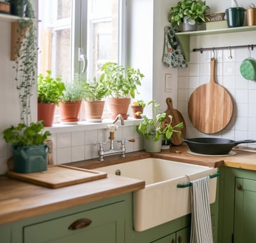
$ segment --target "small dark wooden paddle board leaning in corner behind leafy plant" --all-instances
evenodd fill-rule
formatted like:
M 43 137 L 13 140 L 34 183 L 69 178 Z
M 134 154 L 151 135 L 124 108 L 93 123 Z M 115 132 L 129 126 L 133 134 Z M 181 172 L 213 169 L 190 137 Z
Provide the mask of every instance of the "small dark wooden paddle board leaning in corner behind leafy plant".
M 170 97 L 166 98 L 166 104 L 168 106 L 168 109 L 165 111 L 166 112 L 166 120 L 164 121 L 164 123 L 169 122 L 170 118 L 168 118 L 169 115 L 173 116 L 173 120 L 172 120 L 172 126 L 175 126 L 179 123 L 183 123 L 184 127 L 183 128 L 177 128 L 177 130 L 180 130 L 181 134 L 178 134 L 177 132 L 173 133 L 172 139 L 171 139 L 171 143 L 173 145 L 180 145 L 182 144 L 182 139 L 184 137 L 186 137 L 186 123 L 185 120 L 182 116 L 182 114 L 180 113 L 180 111 L 178 111 L 177 109 L 173 109 L 173 99 L 171 99 Z

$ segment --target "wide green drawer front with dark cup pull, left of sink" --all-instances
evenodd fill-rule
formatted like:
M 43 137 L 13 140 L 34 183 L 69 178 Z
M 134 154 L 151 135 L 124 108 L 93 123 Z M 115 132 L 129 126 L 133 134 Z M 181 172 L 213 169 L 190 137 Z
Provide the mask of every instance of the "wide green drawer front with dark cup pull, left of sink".
M 26 225 L 24 229 L 25 243 L 42 242 L 124 242 L 124 202 L 109 204 L 104 207 L 81 211 L 76 214 L 62 216 L 50 221 Z M 91 223 L 70 229 L 72 223 L 79 220 Z

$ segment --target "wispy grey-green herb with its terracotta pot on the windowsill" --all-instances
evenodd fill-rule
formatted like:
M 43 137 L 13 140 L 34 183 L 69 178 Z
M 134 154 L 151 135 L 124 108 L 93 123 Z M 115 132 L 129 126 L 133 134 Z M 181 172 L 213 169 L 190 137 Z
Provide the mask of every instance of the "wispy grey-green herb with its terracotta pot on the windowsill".
M 84 96 L 83 85 L 83 80 L 78 74 L 72 83 L 65 83 L 65 90 L 60 97 L 60 121 L 62 123 L 74 124 L 79 121 Z

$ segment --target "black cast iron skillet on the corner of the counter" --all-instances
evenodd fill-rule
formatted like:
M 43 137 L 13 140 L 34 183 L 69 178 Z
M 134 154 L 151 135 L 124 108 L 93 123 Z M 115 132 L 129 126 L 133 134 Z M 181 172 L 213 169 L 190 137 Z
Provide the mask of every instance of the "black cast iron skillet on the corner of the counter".
M 255 140 L 234 141 L 230 139 L 219 139 L 215 137 L 196 137 L 183 139 L 193 153 L 206 155 L 227 155 L 231 149 L 238 144 L 255 143 Z

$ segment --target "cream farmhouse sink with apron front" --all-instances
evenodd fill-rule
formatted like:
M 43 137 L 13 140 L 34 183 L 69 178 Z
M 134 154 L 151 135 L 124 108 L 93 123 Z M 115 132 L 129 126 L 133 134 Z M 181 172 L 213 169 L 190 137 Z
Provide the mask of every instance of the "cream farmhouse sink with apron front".
M 97 168 L 98 171 L 141 179 L 144 189 L 134 192 L 134 227 L 143 231 L 191 213 L 189 181 L 217 173 L 217 168 L 145 158 Z M 210 179 L 210 203 L 215 202 L 217 178 Z

